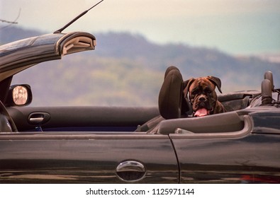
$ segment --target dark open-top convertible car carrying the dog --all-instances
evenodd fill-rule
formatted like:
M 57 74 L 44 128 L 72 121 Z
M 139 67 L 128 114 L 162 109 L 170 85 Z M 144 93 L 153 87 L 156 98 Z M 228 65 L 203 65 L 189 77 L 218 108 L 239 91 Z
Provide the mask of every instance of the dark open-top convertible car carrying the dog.
M 180 71 L 167 69 L 158 107 L 33 107 L 15 74 L 94 50 L 89 33 L 53 33 L 0 46 L 1 183 L 280 183 L 280 100 L 218 95 L 227 112 L 192 117 Z

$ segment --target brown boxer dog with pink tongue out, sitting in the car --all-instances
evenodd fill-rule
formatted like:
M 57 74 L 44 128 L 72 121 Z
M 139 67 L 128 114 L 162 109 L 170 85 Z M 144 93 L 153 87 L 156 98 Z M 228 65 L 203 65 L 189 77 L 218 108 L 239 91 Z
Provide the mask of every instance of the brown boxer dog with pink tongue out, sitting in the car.
M 194 111 L 194 117 L 225 112 L 225 107 L 218 101 L 215 87 L 220 93 L 220 78 L 214 76 L 191 78 L 183 83 L 184 97 L 188 97 Z

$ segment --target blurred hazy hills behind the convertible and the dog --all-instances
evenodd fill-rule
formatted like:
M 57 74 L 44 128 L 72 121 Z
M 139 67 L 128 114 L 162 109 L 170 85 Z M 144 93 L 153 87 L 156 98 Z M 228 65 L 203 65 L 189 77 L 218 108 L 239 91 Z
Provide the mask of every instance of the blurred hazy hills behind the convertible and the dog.
M 11 26 L 0 29 L 0 43 L 41 34 Z M 34 105 L 157 105 L 164 71 L 170 65 L 177 66 L 184 79 L 219 77 L 224 93 L 259 90 L 267 70 L 274 73 L 274 84 L 280 87 L 280 63 L 263 57 L 234 57 L 179 43 L 158 45 L 131 33 L 93 34 L 94 52 L 34 66 L 18 74 L 13 83 L 32 86 Z

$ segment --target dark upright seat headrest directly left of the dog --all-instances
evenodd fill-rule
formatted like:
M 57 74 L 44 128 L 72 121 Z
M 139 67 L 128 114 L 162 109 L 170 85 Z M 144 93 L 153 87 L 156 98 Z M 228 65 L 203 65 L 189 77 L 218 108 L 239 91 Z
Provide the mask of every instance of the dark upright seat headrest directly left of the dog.
M 183 96 L 183 78 L 176 66 L 169 66 L 164 74 L 162 88 L 159 91 L 159 113 L 165 119 L 181 117 L 187 112 L 189 105 Z

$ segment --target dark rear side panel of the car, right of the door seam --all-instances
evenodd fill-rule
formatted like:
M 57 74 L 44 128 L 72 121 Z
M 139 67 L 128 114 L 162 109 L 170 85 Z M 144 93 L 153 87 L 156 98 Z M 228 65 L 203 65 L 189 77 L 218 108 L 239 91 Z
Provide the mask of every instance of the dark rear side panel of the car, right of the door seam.
M 181 183 L 279 183 L 280 135 L 172 139 Z

